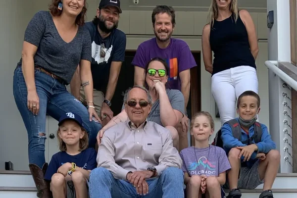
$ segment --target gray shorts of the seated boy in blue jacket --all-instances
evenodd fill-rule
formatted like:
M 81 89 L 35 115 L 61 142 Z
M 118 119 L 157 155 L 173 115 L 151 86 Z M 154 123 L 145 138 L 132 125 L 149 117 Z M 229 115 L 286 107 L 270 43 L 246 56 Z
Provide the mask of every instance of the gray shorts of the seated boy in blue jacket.
M 263 180 L 260 180 L 259 167 L 260 160 L 257 160 L 252 167 L 241 167 L 238 179 L 237 188 L 239 189 L 255 189 L 259 185 L 263 184 Z M 225 189 L 229 189 L 228 174 L 226 177 Z

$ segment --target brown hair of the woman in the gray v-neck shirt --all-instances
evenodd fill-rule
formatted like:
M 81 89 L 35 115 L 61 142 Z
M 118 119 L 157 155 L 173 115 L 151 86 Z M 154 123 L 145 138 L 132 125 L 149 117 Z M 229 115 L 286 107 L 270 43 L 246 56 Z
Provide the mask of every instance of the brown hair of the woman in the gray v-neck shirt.
M 79 13 L 79 15 L 76 17 L 75 19 L 75 23 L 77 25 L 84 25 L 85 24 L 85 21 L 86 21 L 86 18 L 87 18 L 87 0 L 85 0 L 84 2 L 84 7 L 81 11 L 81 13 Z M 60 16 L 61 13 L 62 13 L 62 10 L 59 10 L 58 9 L 58 4 L 59 2 L 61 2 L 61 0 L 52 0 L 51 1 L 51 4 L 49 4 L 49 11 L 51 13 L 52 16 Z

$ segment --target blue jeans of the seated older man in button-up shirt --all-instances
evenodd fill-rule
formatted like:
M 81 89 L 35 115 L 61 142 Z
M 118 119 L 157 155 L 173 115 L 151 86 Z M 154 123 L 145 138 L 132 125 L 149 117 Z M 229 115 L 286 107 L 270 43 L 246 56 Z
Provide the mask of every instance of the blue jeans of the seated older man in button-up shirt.
M 148 194 L 140 196 L 129 182 L 114 179 L 105 168 L 96 168 L 90 174 L 90 198 L 184 198 L 184 173 L 179 168 L 167 168 L 147 183 Z

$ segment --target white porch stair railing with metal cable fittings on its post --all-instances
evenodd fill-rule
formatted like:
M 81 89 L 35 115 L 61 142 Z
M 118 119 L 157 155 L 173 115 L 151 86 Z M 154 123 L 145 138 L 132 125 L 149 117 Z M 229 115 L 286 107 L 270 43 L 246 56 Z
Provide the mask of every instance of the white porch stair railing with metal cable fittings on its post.
M 269 87 L 270 92 L 275 92 L 278 90 L 278 99 L 273 100 L 274 102 L 269 103 L 273 108 L 279 108 L 279 115 L 274 115 L 269 117 L 270 123 L 279 122 L 279 132 L 274 131 L 271 134 L 273 141 L 276 142 L 278 149 L 281 153 L 281 173 L 292 173 L 293 172 L 293 147 L 292 147 L 292 95 L 291 88 L 297 90 L 297 81 L 283 72 L 278 68 L 278 61 L 265 61 L 265 65 L 271 70 L 275 75 L 280 78 L 280 83 L 278 89 L 276 87 Z M 276 80 L 276 79 L 271 79 Z M 270 101 L 270 99 L 269 99 Z M 277 104 L 275 101 L 279 101 Z M 270 108 L 269 108 L 270 109 Z M 278 118 L 279 120 L 277 120 Z M 271 131 L 270 127 L 270 131 Z M 297 153 L 294 153 L 297 154 Z

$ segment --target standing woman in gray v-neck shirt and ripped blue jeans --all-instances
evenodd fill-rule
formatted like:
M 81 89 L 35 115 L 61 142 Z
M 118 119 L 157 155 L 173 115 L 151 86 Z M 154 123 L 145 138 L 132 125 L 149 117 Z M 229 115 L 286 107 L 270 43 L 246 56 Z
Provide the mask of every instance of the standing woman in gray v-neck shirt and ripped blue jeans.
M 40 170 L 46 162 L 47 114 L 56 120 L 66 113 L 71 115 L 69 112 L 80 115 L 89 134 L 90 147 L 95 146 L 101 129 L 101 125 L 92 120 L 92 116 L 98 120 L 99 117 L 92 103 L 91 37 L 82 26 L 86 14 L 84 0 L 63 0 L 61 10 L 59 2 L 54 0 L 50 11 L 37 12 L 29 22 L 22 58 L 13 76 L 14 99 L 28 133 L 33 178 L 36 172 L 32 169 Z M 65 88 L 78 65 L 89 108 Z

